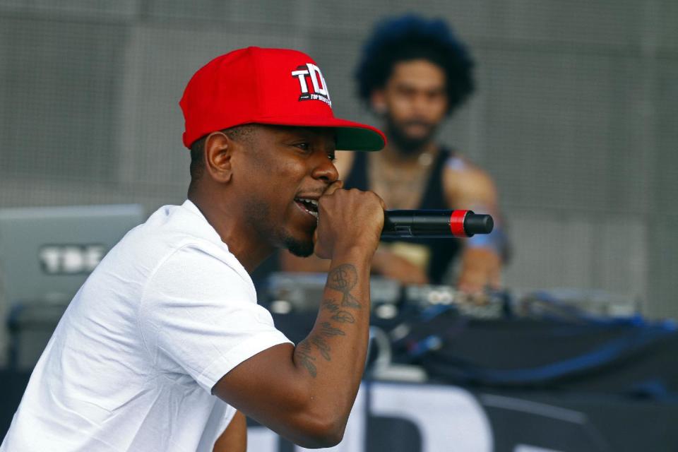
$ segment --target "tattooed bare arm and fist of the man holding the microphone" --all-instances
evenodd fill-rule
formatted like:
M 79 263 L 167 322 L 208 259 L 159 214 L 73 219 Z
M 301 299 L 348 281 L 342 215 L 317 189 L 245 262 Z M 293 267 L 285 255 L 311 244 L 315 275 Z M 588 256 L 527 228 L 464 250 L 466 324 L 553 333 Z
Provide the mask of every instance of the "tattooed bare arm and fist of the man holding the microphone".
M 371 192 L 339 190 L 319 201 L 316 254 L 331 258 L 311 333 L 247 359 L 213 388 L 220 398 L 305 447 L 337 444 L 367 353 L 369 270 L 383 208 Z M 357 220 L 359 219 L 359 220 Z

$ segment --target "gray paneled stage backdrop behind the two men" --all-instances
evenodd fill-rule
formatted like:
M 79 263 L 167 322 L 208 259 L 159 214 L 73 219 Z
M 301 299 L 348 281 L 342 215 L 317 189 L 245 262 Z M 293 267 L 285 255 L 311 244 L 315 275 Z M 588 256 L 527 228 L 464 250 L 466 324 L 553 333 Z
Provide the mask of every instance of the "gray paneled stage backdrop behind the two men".
M 581 287 L 677 316 L 676 0 L 0 0 L 0 207 L 181 203 L 177 105 L 208 59 L 295 47 L 335 113 L 374 20 L 449 20 L 478 91 L 441 137 L 501 190 L 506 285 Z

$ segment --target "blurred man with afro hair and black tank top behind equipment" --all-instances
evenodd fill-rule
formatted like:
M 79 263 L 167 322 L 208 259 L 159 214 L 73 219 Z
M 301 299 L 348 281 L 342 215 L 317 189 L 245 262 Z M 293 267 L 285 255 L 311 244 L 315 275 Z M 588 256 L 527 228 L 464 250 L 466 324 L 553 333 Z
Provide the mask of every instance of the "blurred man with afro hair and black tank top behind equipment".
M 372 270 L 405 284 L 449 283 L 464 292 L 498 287 L 506 249 L 497 193 L 480 167 L 436 141 L 442 122 L 473 93 L 473 61 L 444 20 L 408 14 L 376 25 L 355 73 L 358 95 L 383 121 L 380 153 L 339 153 L 347 188 L 372 190 L 390 209 L 470 209 L 490 213 L 495 232 L 471 239 L 397 239 L 381 246 Z M 317 262 L 283 257 L 287 270 L 318 270 Z

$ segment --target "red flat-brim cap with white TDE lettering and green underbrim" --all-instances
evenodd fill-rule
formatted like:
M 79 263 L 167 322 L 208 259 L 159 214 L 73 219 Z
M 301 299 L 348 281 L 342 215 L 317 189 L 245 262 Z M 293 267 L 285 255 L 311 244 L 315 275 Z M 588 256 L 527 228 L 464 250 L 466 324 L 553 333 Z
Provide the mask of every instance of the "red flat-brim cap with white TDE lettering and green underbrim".
M 216 57 L 194 74 L 179 102 L 184 145 L 242 124 L 333 127 L 337 149 L 381 150 L 379 129 L 335 118 L 325 79 L 307 54 L 247 47 Z

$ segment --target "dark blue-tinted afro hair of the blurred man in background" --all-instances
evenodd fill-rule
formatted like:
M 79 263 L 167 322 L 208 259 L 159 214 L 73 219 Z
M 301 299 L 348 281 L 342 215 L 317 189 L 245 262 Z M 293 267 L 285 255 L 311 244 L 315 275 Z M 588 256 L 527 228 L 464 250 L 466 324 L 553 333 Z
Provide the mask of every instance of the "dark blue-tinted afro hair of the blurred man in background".
M 444 20 L 415 14 L 387 18 L 377 23 L 362 48 L 355 71 L 358 95 L 369 105 L 373 90 L 382 88 L 399 61 L 426 59 L 446 73 L 448 113 L 473 93 L 473 60 Z

